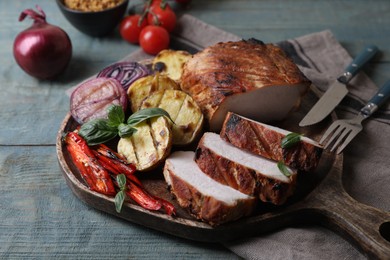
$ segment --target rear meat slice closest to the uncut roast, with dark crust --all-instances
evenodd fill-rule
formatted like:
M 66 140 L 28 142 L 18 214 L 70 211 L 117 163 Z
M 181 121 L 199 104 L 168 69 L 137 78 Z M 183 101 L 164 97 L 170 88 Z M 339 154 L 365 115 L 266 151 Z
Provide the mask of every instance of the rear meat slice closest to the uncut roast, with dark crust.
M 220 136 L 234 146 L 254 154 L 283 161 L 301 171 L 314 171 L 322 155 L 322 146 L 302 136 L 301 141 L 293 147 L 282 148 L 282 139 L 289 133 L 291 132 L 229 112 Z

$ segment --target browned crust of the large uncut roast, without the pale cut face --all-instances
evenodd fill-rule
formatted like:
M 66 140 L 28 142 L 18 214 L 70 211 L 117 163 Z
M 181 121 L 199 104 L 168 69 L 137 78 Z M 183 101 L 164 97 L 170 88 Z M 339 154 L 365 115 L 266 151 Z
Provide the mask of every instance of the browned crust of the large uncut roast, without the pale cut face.
M 206 48 L 187 61 L 181 77 L 181 88 L 194 98 L 207 120 L 228 96 L 297 84 L 309 87 L 310 81 L 281 48 L 256 40 Z

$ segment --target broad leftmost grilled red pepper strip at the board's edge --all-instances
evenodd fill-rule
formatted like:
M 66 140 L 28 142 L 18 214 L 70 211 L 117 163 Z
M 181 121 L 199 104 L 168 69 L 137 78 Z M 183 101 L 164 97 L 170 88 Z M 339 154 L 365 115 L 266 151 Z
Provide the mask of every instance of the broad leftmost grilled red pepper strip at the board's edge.
M 64 141 L 74 164 L 81 176 L 93 191 L 114 196 L 114 184 L 107 170 L 101 166 L 84 139 L 77 133 L 67 133 Z

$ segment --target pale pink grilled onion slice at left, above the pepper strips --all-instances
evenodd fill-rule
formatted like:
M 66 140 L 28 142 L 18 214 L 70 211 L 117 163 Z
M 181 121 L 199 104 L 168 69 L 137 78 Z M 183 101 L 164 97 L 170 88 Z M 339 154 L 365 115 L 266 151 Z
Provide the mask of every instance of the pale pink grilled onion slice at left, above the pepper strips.
M 90 79 L 80 84 L 70 96 L 70 113 L 79 124 L 94 118 L 107 118 L 111 105 L 120 105 L 126 111 L 126 91 L 113 78 Z

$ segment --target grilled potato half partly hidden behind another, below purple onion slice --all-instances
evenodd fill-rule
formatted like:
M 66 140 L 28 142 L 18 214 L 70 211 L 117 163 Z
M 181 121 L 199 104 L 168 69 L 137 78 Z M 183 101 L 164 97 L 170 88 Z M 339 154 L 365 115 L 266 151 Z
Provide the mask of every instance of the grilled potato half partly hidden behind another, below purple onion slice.
M 133 113 L 138 111 L 142 100 L 153 92 L 164 89 L 180 89 L 180 87 L 174 80 L 159 73 L 134 81 L 127 90 L 131 111 Z

